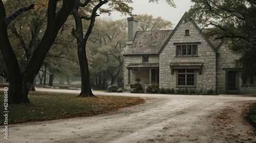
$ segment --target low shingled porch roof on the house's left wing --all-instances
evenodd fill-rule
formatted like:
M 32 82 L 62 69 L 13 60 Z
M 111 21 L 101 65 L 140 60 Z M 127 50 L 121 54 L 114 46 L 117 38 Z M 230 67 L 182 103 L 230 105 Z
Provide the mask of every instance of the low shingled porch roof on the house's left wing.
M 130 63 L 126 66 L 127 69 L 159 69 L 159 63 Z

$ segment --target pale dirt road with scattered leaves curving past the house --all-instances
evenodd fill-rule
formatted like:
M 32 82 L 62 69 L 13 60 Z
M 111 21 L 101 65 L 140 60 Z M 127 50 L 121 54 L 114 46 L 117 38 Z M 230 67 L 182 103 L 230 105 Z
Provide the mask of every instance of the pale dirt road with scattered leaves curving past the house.
M 92 117 L 10 125 L 9 139 L 2 134 L 0 142 L 256 141 L 242 115 L 255 96 L 121 95 L 142 97 L 146 103 Z

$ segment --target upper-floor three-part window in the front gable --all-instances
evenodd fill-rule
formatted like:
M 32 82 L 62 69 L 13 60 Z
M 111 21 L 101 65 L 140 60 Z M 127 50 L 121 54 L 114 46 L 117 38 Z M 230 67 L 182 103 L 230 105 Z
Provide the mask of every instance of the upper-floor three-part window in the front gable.
M 197 56 L 197 45 L 177 45 L 176 56 Z

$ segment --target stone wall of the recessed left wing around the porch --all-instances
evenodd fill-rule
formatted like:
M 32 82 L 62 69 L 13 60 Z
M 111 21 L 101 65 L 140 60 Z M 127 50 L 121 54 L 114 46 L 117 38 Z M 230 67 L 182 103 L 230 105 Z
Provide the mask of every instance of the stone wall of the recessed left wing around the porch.
M 136 83 L 136 78 L 141 78 L 142 87 L 150 84 L 150 69 L 132 69 L 131 70 L 131 84 L 128 84 L 128 69 L 127 65 L 130 63 L 142 63 L 142 55 L 124 55 L 124 90 L 130 90 L 131 84 Z M 159 63 L 158 55 L 148 55 L 148 63 Z

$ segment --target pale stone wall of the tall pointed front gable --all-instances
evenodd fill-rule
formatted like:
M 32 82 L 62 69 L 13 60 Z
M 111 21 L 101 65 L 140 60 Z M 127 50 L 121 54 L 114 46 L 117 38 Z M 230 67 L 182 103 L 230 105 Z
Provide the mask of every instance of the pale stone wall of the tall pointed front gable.
M 185 36 L 185 30 L 189 30 L 189 36 Z M 174 43 L 200 42 L 197 57 L 176 57 L 176 45 Z M 169 64 L 171 62 L 203 62 L 202 75 L 196 70 L 197 87 L 194 89 L 216 89 L 216 54 L 201 36 L 192 22 L 182 22 L 177 31 L 164 47 L 159 58 L 160 88 L 176 89 L 176 72 L 171 74 Z

